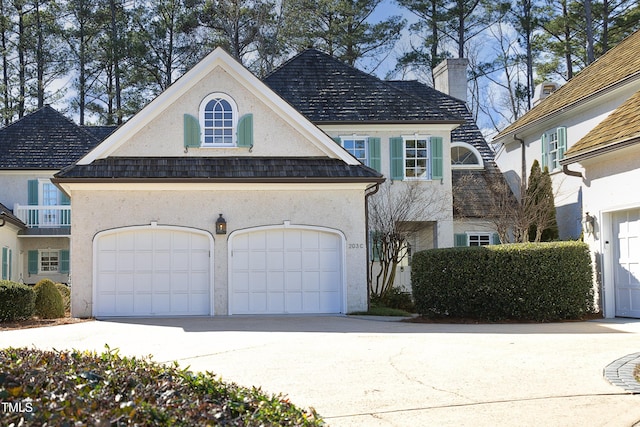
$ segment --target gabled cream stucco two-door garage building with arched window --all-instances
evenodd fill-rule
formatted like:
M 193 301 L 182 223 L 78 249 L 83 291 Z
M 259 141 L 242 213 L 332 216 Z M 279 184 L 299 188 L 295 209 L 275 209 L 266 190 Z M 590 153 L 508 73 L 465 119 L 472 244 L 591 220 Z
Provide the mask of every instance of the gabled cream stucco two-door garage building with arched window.
M 366 310 L 365 197 L 383 181 L 216 49 L 55 174 L 72 314 Z

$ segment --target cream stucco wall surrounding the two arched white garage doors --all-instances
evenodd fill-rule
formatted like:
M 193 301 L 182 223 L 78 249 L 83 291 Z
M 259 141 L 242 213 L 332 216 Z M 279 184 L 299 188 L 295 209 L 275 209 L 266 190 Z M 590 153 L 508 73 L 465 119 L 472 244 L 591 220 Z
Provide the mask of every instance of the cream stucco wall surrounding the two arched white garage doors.
M 190 227 L 214 237 L 213 307 L 216 315 L 228 313 L 228 238 L 236 230 L 251 227 L 308 225 L 326 227 L 346 238 L 346 311 L 366 309 L 366 252 L 364 188 L 315 190 L 236 189 L 163 191 L 74 190 L 72 212 L 72 315 L 92 315 L 93 240 L 98 232 L 128 226 L 159 225 Z M 227 235 L 215 235 L 214 223 L 222 213 Z

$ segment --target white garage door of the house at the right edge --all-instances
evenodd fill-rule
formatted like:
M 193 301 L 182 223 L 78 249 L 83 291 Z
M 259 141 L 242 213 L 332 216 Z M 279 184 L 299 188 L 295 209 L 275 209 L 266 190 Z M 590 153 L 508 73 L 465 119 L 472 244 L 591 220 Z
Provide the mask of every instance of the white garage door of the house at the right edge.
M 612 219 L 616 316 L 640 318 L 640 209 L 615 212 Z

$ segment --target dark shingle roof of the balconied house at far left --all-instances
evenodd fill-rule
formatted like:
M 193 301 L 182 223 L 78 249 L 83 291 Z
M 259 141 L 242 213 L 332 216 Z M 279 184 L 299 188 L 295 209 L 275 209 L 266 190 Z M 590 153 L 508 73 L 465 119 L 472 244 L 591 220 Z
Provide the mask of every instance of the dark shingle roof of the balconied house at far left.
M 61 169 L 99 142 L 46 105 L 0 129 L 0 168 Z

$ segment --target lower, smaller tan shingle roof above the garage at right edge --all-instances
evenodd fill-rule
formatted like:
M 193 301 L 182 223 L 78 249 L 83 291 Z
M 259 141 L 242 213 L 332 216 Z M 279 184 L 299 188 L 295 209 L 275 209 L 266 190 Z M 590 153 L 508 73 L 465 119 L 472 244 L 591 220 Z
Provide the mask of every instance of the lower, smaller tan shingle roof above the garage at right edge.
M 565 161 L 640 140 L 640 91 L 627 99 L 565 153 Z

